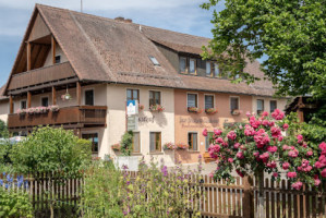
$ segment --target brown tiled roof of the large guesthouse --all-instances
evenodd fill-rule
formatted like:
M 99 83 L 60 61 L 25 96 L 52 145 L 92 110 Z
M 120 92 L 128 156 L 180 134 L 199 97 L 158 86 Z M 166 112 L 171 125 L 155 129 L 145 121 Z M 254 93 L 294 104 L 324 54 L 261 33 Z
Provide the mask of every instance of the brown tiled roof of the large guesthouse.
M 208 38 L 119 22 L 110 19 L 37 4 L 58 44 L 82 81 L 126 83 L 250 95 L 274 94 L 269 82 L 254 85 L 180 75 L 155 43 L 177 52 L 200 55 Z M 155 43 L 154 43 L 155 41 Z M 148 56 L 160 63 L 154 65 Z M 262 77 L 258 62 L 249 64 Z

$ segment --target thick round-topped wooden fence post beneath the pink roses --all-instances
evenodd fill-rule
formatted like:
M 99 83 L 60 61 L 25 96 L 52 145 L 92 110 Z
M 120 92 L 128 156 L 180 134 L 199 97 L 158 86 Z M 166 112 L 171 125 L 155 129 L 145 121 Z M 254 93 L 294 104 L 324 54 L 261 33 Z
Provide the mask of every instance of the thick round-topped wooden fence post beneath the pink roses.
M 252 190 L 253 180 L 251 177 L 244 177 L 243 180 L 243 198 L 242 198 L 242 211 L 244 218 L 254 218 L 254 195 Z

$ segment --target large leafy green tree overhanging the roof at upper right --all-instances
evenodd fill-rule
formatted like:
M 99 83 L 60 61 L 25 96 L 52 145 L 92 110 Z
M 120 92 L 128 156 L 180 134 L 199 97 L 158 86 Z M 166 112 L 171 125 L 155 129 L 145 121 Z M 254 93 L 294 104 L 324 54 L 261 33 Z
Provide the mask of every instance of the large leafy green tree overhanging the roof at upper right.
M 212 9 L 220 0 L 203 3 Z M 324 0 L 226 0 L 214 10 L 214 38 L 204 58 L 215 58 L 231 72 L 252 83 L 244 71 L 249 60 L 262 64 L 279 95 L 326 96 L 326 7 Z

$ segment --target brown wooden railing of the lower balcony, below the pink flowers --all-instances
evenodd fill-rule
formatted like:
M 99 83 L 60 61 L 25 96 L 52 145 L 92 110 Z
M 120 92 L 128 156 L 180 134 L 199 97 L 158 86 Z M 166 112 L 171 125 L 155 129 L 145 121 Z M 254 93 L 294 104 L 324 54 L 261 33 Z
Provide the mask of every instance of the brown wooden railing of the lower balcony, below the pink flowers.
M 72 128 L 105 126 L 106 106 L 73 106 L 41 114 L 9 114 L 8 128 L 29 129 L 38 125 L 69 125 Z

